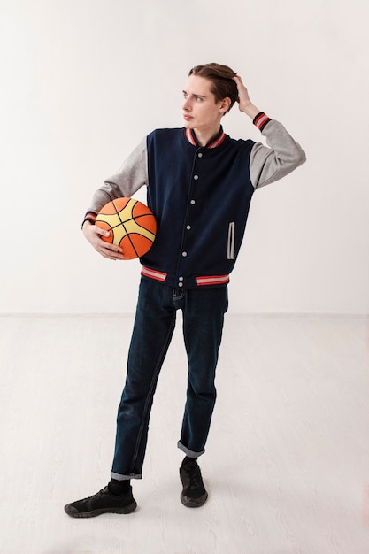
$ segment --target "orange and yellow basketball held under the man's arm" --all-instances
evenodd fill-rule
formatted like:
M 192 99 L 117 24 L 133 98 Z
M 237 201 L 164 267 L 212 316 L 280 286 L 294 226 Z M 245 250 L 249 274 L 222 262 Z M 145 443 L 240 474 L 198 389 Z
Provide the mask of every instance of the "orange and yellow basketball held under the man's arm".
M 140 258 L 155 240 L 157 221 L 150 208 L 134 198 L 117 198 L 100 210 L 96 225 L 109 231 L 102 236 L 123 250 L 125 259 Z

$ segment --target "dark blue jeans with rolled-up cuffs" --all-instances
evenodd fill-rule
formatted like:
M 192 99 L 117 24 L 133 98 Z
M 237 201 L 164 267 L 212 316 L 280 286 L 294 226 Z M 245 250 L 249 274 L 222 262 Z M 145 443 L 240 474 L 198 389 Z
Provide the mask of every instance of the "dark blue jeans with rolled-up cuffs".
M 215 368 L 227 305 L 227 287 L 181 290 L 142 278 L 117 418 L 114 479 L 142 477 L 153 396 L 179 309 L 188 355 L 188 389 L 178 447 L 191 458 L 204 453 L 216 399 Z

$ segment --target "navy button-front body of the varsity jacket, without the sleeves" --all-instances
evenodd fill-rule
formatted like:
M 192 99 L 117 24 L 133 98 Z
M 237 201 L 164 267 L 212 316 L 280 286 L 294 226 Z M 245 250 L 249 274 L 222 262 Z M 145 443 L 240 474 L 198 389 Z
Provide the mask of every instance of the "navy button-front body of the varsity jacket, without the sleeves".
M 148 135 L 148 205 L 158 234 L 141 261 L 159 281 L 185 289 L 227 284 L 254 192 L 253 145 L 225 135 L 216 148 L 202 148 L 188 142 L 185 129 Z

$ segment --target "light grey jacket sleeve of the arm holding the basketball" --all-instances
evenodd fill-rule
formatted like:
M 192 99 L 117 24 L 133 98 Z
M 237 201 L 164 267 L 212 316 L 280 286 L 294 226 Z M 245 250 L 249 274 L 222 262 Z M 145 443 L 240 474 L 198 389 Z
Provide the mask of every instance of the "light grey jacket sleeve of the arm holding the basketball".
M 88 212 L 99 212 L 105 204 L 115 198 L 131 197 L 138 189 L 147 186 L 147 183 L 147 147 L 144 138 L 120 167 L 119 172 L 111 175 L 96 190 Z

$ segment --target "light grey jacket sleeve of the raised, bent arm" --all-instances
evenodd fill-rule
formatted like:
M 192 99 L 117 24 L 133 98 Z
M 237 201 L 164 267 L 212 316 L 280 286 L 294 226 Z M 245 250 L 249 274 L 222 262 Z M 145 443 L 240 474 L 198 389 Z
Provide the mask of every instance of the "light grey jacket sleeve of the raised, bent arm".
M 279 121 L 271 119 L 262 135 L 268 146 L 256 142 L 250 156 L 250 178 L 258 189 L 288 175 L 306 160 L 304 150 Z

